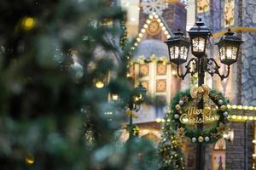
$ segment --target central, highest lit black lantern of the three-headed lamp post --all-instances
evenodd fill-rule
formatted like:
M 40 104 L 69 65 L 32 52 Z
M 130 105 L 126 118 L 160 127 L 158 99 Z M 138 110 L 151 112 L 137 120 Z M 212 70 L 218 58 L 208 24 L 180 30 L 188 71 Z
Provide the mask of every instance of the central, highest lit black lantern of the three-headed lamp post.
M 211 34 L 210 29 L 205 26 L 200 19 L 199 21 L 195 22 L 195 26 L 193 26 L 188 33 L 192 45 L 192 54 L 197 58 L 201 58 L 201 56 L 206 54 L 207 40 Z

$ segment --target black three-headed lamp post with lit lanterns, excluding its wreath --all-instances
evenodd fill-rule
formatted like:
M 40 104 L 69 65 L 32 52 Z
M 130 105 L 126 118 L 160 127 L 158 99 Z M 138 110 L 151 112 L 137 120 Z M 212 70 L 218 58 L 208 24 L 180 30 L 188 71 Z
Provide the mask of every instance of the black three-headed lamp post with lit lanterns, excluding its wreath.
M 207 58 L 207 42 L 211 35 L 211 31 L 205 24 L 199 20 L 195 23 L 189 31 L 189 38 L 184 37 L 181 31 L 174 33 L 174 37 L 169 38 L 166 41 L 169 50 L 169 59 L 172 63 L 177 65 L 177 76 L 182 79 L 186 77 L 187 74 L 193 76 L 195 73 L 198 74 L 198 86 L 204 84 L 205 73 L 208 72 L 211 76 L 217 74 L 221 80 L 229 77 L 230 65 L 236 62 L 237 55 L 239 52 L 239 47 L 241 45 L 241 39 L 234 36 L 234 33 L 228 30 L 221 37 L 218 45 L 218 51 L 220 55 L 220 62 L 224 65 L 228 65 L 228 72 L 226 75 L 222 75 L 219 72 L 220 66 L 213 58 Z M 189 46 L 191 45 L 191 53 L 195 55 L 195 58 L 189 59 L 187 65 L 185 65 L 186 71 L 184 74 L 180 73 L 179 65 L 185 63 L 188 59 Z M 192 66 L 194 65 L 194 66 Z M 204 108 L 204 101 L 201 98 L 197 105 L 198 109 Z M 201 115 L 199 115 L 201 118 Z M 197 123 L 196 127 L 199 131 L 203 130 L 203 123 Z M 196 170 L 204 169 L 204 146 L 202 144 L 197 144 L 196 147 Z

